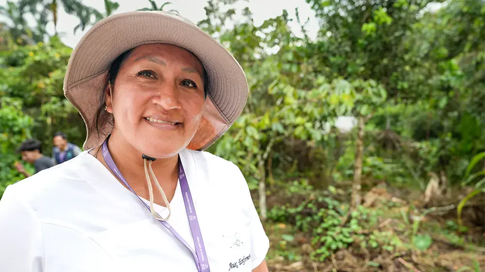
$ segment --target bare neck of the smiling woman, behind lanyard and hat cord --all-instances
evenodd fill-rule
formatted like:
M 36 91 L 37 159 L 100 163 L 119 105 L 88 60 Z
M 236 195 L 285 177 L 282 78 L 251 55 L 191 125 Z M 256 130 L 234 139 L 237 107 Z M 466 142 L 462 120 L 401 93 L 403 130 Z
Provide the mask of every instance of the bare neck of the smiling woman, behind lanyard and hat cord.
M 108 150 L 110 151 L 116 167 L 123 174 L 123 177 L 128 182 L 129 186 L 135 191 L 137 195 L 148 199 L 148 185 L 145 176 L 144 160 L 140 151 L 136 150 L 129 144 L 124 136 L 113 131 L 113 134 L 108 139 Z M 108 169 L 108 165 L 104 161 L 101 152 L 98 152 L 97 159 L 104 164 Z M 178 155 L 170 158 L 156 159 L 152 163 L 152 169 L 157 176 L 157 179 L 165 192 L 168 201 L 170 202 L 175 194 L 178 181 Z M 110 170 L 111 171 L 111 170 Z M 113 173 L 112 173 L 113 174 Z M 114 177 L 116 177 L 113 174 Z M 116 177 L 117 178 L 117 177 Z M 151 176 L 150 176 L 150 179 Z M 162 205 L 163 199 L 152 179 L 152 186 L 154 190 L 155 203 Z

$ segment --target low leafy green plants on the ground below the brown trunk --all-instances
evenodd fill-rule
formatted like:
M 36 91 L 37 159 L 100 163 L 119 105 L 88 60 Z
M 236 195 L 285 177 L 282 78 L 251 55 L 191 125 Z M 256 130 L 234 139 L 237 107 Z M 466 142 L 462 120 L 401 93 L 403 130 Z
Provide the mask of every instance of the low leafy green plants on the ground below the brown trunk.
M 268 219 L 272 221 L 294 220 L 297 229 L 310 233 L 316 248 L 310 255 L 318 261 L 324 261 L 352 244 L 390 253 L 405 248 L 401 239 L 389 231 L 366 233 L 376 227 L 380 216 L 382 212 L 364 206 L 358 206 L 349 213 L 346 204 L 324 196 L 312 197 L 297 207 L 274 207 L 268 213 Z

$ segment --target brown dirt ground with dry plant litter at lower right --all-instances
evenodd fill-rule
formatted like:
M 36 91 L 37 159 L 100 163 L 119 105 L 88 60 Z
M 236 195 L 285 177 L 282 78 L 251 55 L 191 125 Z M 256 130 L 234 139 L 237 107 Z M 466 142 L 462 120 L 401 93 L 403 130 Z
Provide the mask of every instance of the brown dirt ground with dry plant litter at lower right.
M 289 223 L 265 222 L 265 230 L 270 238 L 268 266 L 271 272 L 482 272 L 485 271 L 485 228 L 481 218 L 485 196 L 475 200 L 464 209 L 466 231 L 450 229 L 456 221 L 454 204 L 437 207 L 416 207 L 416 200 L 404 201 L 389 193 L 386 189 L 372 189 L 364 197 L 368 208 L 382 209 L 389 201 L 398 203 L 397 207 L 387 210 L 379 218 L 378 231 L 387 231 L 397 235 L 403 242 L 409 243 L 409 225 L 404 224 L 400 216 L 406 210 L 413 220 L 413 213 L 427 214 L 420 220 L 420 233 L 432 238 L 431 246 L 425 251 L 406 249 L 395 252 L 369 252 L 365 248 L 351 244 L 347 249 L 335 252 L 323 262 L 310 258 L 314 251 L 311 234 L 302 233 Z M 454 197 L 453 197 L 454 198 Z M 269 198 L 271 207 L 271 198 Z M 280 197 L 273 198 L 281 203 Z M 456 199 L 456 198 L 454 198 Z M 298 200 L 300 201 L 300 200 Z M 443 201 L 446 202 L 446 201 Z M 443 204 L 443 203 L 442 203 Z M 412 212 L 409 212 L 412 210 Z M 422 214 L 421 214 L 422 215 Z M 409 222 L 408 222 L 409 223 Z M 407 226 L 407 227 L 406 227 Z M 454 225 L 453 225 L 454 226 Z M 291 241 L 283 239 L 291 236 Z

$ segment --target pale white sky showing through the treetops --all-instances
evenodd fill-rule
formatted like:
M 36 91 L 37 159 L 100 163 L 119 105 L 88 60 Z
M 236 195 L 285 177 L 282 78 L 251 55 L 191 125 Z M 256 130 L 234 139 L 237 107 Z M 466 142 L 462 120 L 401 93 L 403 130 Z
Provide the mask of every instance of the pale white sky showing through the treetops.
M 4 6 L 7 0 L 0 0 L 0 5 Z M 156 0 L 160 6 L 166 0 Z M 17 0 L 14 0 L 17 2 Z M 103 0 L 81 0 L 87 6 L 96 8 L 98 11 L 104 11 Z M 144 7 L 150 7 L 148 0 L 118 0 L 119 8 L 116 13 L 134 11 Z M 206 17 L 204 7 L 207 5 L 207 0 L 170 0 L 172 5 L 166 5 L 165 10 L 175 9 L 180 15 L 197 23 Z M 264 20 L 276 17 L 282 14 L 286 9 L 291 18 L 295 18 L 295 8 L 299 8 L 300 18 L 306 21 L 309 18 L 307 29 L 310 38 L 314 38 L 318 31 L 318 21 L 315 19 L 314 12 L 310 9 L 309 4 L 305 0 L 240 0 L 237 8 L 249 7 L 253 12 L 253 18 L 256 25 L 260 25 Z M 28 18 L 29 20 L 29 18 Z M 32 20 L 32 19 L 31 19 Z M 59 9 L 57 30 L 61 36 L 61 40 L 69 47 L 74 48 L 81 40 L 83 34 L 88 30 L 86 28 L 83 32 L 77 31 L 73 33 L 74 27 L 79 23 L 79 19 L 74 16 L 67 15 L 63 9 Z M 300 27 L 294 22 L 290 24 L 295 34 L 300 34 Z M 54 26 L 52 23 L 48 25 L 49 33 L 54 33 Z

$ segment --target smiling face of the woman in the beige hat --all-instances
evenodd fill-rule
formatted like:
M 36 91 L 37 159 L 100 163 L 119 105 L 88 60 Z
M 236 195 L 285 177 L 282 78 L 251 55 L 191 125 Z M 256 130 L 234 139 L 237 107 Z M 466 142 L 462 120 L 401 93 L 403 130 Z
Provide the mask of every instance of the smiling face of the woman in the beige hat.
M 205 104 L 203 73 L 194 54 L 180 47 L 135 48 L 116 76 L 112 96 L 108 91 L 113 135 L 150 157 L 176 155 L 199 127 Z

